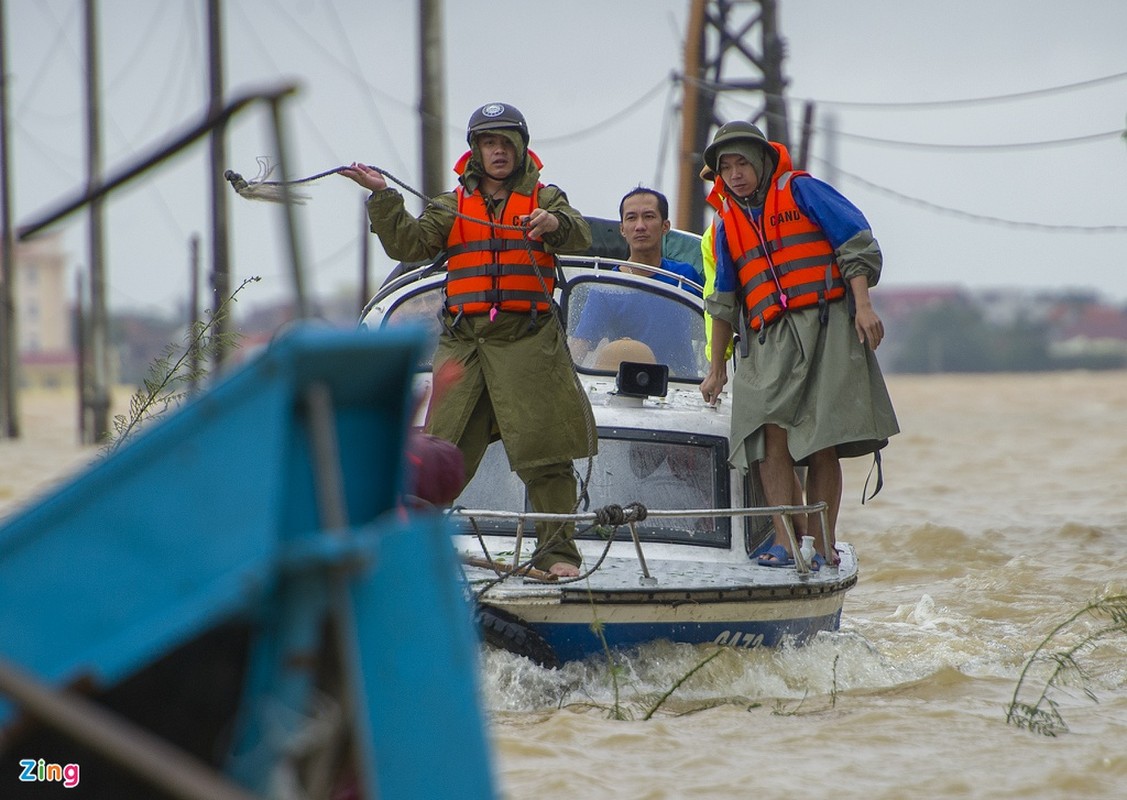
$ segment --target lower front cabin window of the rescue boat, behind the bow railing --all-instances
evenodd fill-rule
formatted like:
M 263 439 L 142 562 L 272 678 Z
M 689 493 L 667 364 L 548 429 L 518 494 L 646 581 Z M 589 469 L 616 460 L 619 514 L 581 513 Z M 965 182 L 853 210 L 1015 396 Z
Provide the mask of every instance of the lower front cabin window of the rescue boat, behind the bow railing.
M 725 441 L 713 436 L 663 434 L 660 441 L 648 430 L 600 430 L 598 455 L 592 465 L 587 492 L 591 510 L 615 504 L 640 503 L 647 509 L 727 508 L 729 503 Z M 575 462 L 582 481 L 587 460 Z M 530 512 L 520 478 L 509 470 L 500 442 L 486 451 L 473 480 L 454 503 L 455 507 L 505 512 Z M 511 532 L 515 522 L 481 518 L 482 532 Z M 644 541 L 728 548 L 731 521 L 727 517 L 650 517 L 638 526 Z M 531 535 L 531 530 L 529 531 Z M 601 540 L 587 524 L 577 526 L 578 539 Z M 618 539 L 629 540 L 622 527 Z

